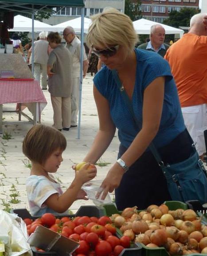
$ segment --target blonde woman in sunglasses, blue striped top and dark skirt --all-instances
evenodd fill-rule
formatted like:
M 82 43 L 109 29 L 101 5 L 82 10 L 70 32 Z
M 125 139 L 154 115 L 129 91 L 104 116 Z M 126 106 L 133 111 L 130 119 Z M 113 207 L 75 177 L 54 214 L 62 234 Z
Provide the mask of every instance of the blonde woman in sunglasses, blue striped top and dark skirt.
M 166 179 L 148 146 L 153 140 L 165 164 L 185 160 L 195 149 L 168 62 L 154 52 L 135 49 L 137 34 L 132 21 L 113 8 L 92 17 L 87 41 L 105 66 L 94 77 L 99 131 L 84 161 L 95 163 L 102 156 L 116 128 L 120 140 L 118 160 L 102 182 L 101 198 L 115 188 L 119 210 L 135 205 L 144 209 L 171 200 Z M 114 69 L 141 129 L 134 124 L 117 87 Z

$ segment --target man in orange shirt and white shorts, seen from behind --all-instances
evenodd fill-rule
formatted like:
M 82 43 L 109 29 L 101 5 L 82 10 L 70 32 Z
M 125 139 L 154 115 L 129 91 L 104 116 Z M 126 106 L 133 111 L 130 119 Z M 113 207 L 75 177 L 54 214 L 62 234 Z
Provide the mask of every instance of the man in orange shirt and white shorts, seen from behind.
M 164 58 L 176 81 L 185 125 L 202 159 L 207 129 L 207 14 L 192 16 L 189 32 L 172 44 Z

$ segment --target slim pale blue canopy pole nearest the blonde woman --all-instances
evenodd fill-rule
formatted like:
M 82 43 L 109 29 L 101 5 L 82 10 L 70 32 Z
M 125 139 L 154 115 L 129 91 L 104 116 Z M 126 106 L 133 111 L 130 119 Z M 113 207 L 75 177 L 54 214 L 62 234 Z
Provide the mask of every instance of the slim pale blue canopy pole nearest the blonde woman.
M 78 112 L 78 139 L 81 133 L 81 100 L 82 100 L 82 68 L 83 68 L 83 41 L 84 41 L 84 14 L 85 7 L 81 9 L 81 66 L 80 66 L 80 87 L 79 87 L 79 112 Z

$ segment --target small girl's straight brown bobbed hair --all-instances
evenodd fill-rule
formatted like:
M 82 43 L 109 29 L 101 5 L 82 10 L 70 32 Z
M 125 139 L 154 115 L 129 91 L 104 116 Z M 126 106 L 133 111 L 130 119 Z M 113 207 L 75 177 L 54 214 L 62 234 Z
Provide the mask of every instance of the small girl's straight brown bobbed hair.
M 34 125 L 23 140 L 22 150 L 32 162 L 44 164 L 56 150 L 66 149 L 66 138 L 55 128 L 43 124 Z

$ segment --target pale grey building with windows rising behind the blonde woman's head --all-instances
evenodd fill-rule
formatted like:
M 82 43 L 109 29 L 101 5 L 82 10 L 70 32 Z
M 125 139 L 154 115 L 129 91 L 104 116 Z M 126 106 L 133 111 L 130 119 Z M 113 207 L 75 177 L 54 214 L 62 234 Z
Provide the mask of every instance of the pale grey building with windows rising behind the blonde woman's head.
M 105 7 L 109 6 L 124 12 L 125 0 L 86 0 L 85 17 L 100 13 Z M 55 7 L 53 9 L 55 13 L 51 15 L 48 20 L 43 20 L 43 22 L 50 25 L 56 25 L 81 16 L 81 8 Z

